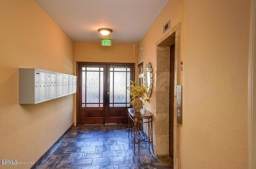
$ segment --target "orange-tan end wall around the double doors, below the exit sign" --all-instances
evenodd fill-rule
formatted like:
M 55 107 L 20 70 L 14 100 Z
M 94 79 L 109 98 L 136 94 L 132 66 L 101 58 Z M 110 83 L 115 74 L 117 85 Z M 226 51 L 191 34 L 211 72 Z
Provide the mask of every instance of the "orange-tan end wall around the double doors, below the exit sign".
M 137 77 L 137 46 L 133 44 L 115 44 L 102 47 L 99 43 L 74 43 L 74 73 L 76 62 L 106 62 L 106 63 L 135 63 L 135 77 Z M 76 100 L 74 101 L 76 106 Z M 76 108 L 75 108 L 76 112 Z M 76 124 L 76 113 L 74 113 Z

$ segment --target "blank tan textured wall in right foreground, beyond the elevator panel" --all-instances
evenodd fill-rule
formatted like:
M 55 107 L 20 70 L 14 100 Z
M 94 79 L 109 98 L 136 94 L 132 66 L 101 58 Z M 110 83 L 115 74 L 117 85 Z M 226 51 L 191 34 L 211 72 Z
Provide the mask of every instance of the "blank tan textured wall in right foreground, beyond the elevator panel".
M 185 0 L 183 169 L 248 168 L 250 0 Z

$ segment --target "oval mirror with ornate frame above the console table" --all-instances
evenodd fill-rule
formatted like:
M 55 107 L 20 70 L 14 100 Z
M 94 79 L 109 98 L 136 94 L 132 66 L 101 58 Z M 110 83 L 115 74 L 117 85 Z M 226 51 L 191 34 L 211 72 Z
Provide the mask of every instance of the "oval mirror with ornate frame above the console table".
M 147 90 L 147 97 L 150 98 L 152 92 L 152 85 L 153 85 L 153 73 L 151 64 L 148 62 L 146 64 L 145 72 L 144 72 L 144 85 Z

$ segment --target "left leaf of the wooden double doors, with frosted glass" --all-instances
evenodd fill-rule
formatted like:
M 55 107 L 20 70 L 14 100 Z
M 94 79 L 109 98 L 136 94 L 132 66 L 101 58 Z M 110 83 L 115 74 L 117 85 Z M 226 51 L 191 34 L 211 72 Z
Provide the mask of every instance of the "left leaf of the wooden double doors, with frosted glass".
M 79 65 L 81 75 L 78 97 L 79 124 L 105 123 L 105 67 L 105 65 Z

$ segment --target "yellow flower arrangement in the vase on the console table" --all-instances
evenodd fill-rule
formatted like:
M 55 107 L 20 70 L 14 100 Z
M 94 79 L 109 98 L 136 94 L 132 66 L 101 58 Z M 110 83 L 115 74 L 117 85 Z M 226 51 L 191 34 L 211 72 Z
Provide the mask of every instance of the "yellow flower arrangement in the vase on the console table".
M 129 87 L 127 87 L 127 90 L 130 90 L 130 102 L 136 98 L 142 98 L 145 102 L 149 103 L 149 98 L 145 98 L 145 94 L 147 93 L 146 87 L 144 85 L 141 86 L 135 86 L 136 80 L 133 82 L 130 80 L 132 83 Z

